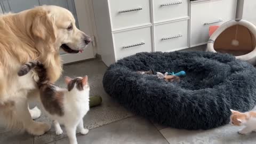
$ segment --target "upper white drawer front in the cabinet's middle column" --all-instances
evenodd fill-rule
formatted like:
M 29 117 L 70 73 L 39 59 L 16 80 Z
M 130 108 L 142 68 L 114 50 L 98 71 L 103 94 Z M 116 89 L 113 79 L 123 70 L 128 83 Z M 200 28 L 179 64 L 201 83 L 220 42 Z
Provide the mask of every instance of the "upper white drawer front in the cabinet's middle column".
M 188 17 L 188 0 L 153 0 L 154 22 Z

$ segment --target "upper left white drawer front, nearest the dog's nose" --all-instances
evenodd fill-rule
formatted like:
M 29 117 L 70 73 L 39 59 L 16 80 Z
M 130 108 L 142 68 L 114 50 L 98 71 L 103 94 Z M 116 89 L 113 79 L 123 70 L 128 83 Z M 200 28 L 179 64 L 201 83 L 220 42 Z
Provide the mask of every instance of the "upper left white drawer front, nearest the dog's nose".
M 150 0 L 109 0 L 112 30 L 150 25 Z

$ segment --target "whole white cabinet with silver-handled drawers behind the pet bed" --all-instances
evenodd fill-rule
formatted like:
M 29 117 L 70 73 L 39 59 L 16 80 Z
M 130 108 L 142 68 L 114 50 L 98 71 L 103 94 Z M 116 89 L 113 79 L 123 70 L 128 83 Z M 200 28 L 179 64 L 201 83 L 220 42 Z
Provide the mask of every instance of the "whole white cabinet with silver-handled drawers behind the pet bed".
M 98 52 L 109 66 L 138 52 L 204 44 L 209 26 L 235 18 L 236 0 L 93 0 L 93 10 Z

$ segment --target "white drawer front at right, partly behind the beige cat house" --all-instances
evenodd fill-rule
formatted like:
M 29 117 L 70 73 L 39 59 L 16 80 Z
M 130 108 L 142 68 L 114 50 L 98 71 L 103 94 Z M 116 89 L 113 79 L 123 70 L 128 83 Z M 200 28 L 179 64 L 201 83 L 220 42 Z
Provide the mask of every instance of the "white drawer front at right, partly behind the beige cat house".
M 212 0 L 191 4 L 191 46 L 209 40 L 209 27 L 235 19 L 236 0 Z

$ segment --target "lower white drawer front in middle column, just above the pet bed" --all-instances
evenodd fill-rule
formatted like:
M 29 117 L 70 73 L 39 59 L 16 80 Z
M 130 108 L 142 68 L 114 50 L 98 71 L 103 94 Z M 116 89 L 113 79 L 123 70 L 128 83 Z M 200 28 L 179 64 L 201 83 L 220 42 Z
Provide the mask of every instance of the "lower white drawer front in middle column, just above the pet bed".
M 188 20 L 154 27 L 155 51 L 174 51 L 188 47 Z

